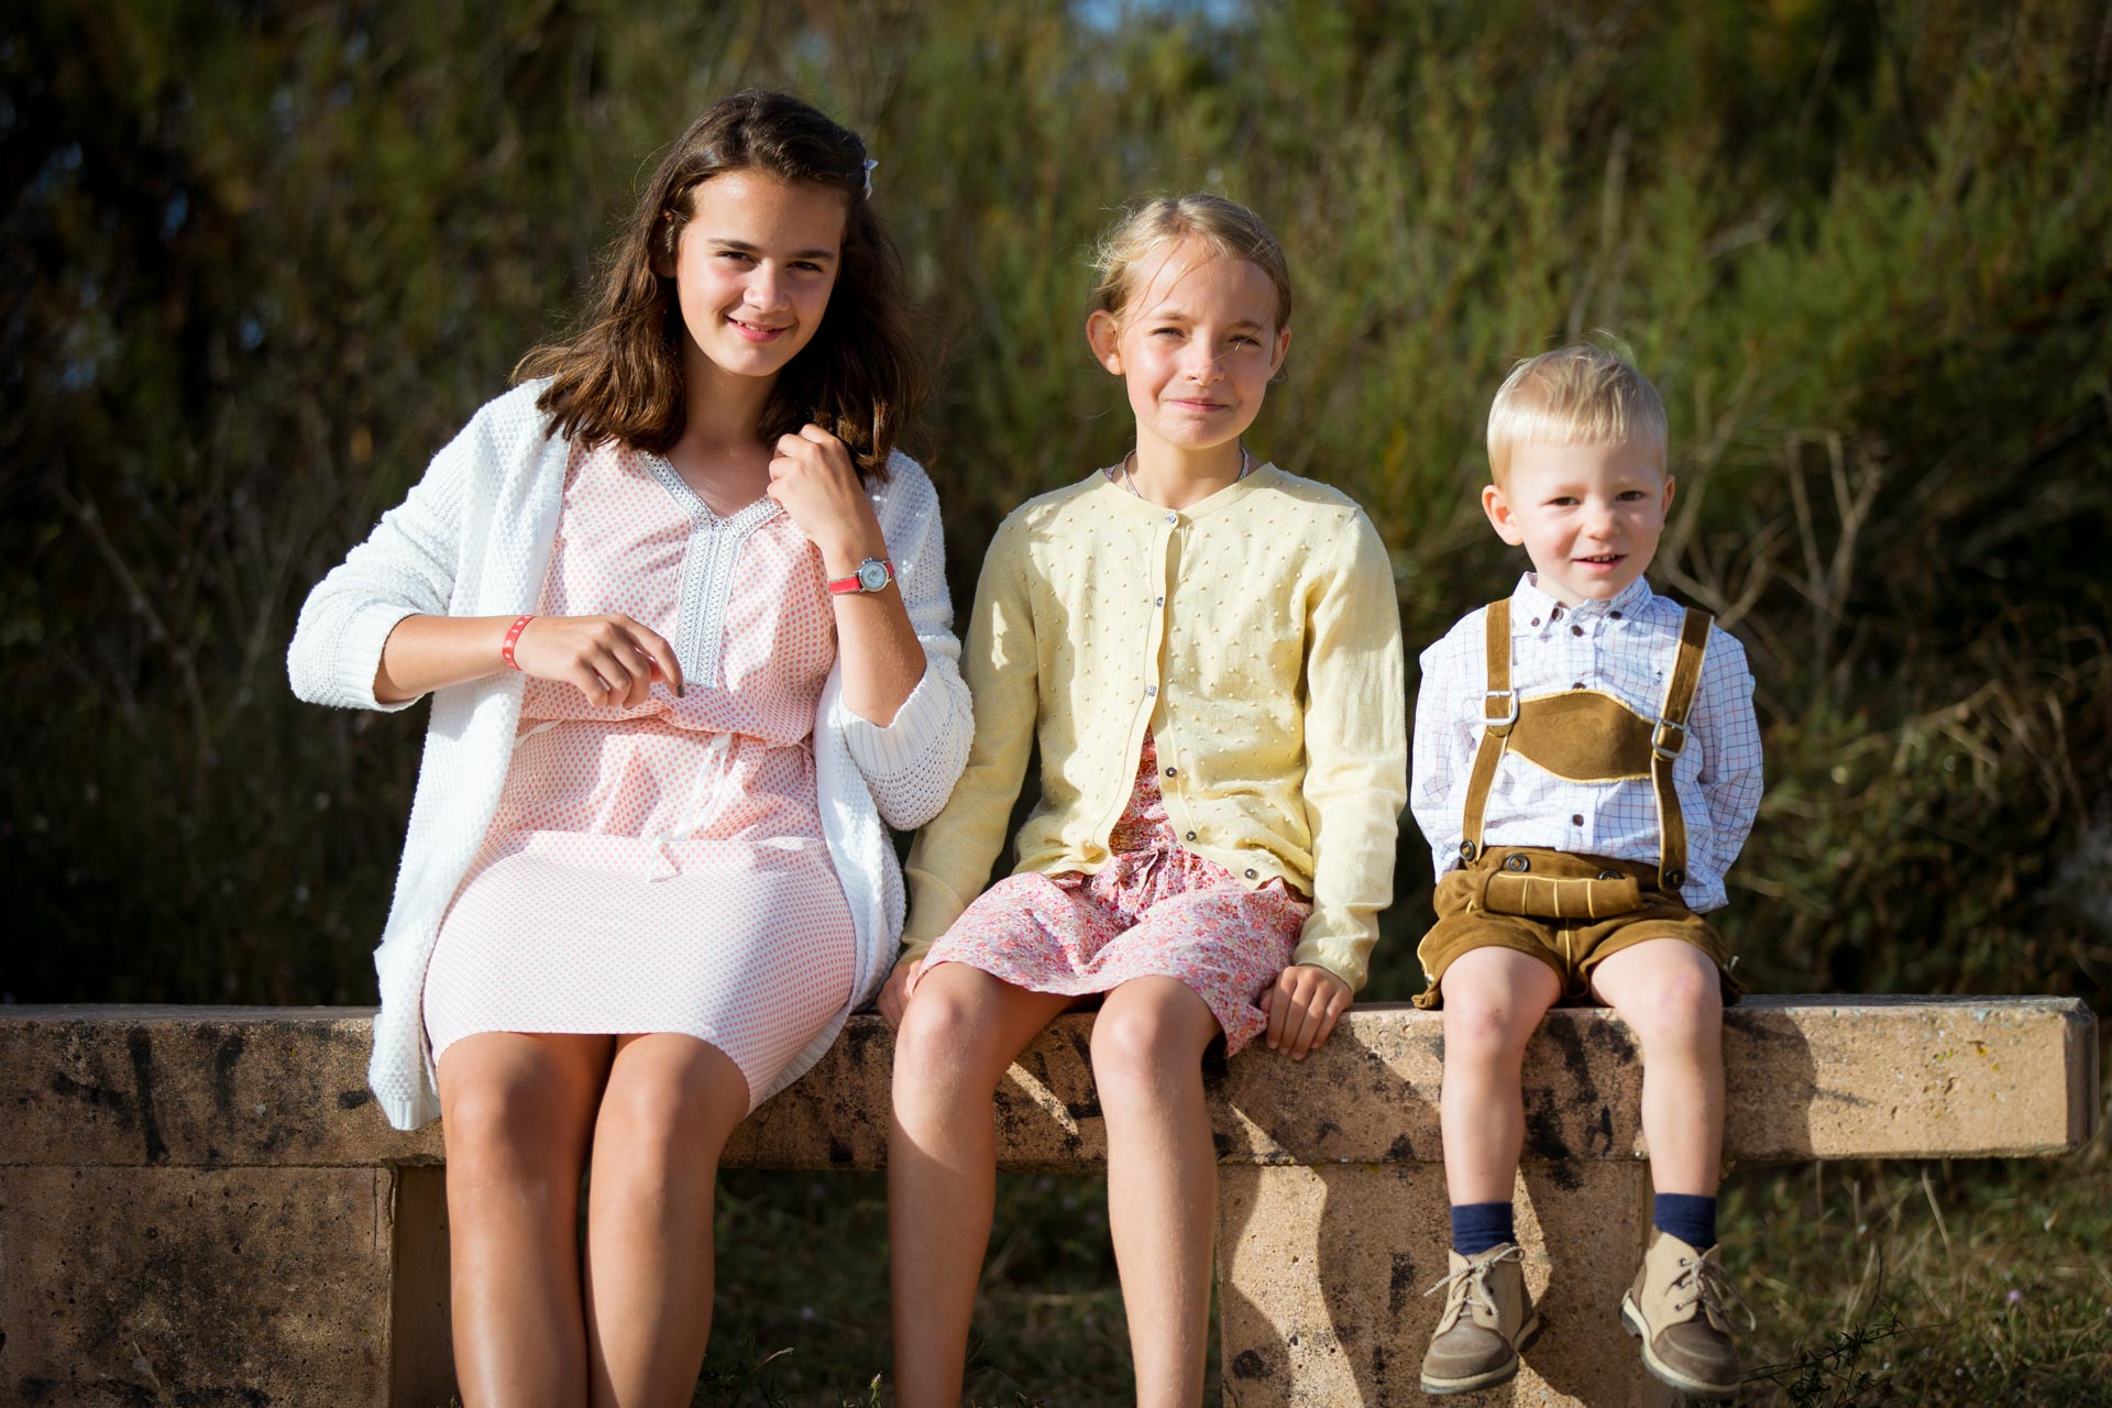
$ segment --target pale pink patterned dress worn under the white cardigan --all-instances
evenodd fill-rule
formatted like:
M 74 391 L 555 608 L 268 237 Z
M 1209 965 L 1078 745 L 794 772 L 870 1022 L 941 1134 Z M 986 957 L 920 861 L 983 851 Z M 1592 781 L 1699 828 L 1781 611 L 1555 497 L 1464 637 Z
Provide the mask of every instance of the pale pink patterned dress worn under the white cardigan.
M 574 450 L 539 612 L 629 614 L 686 688 L 602 709 L 528 682 L 427 967 L 433 1058 L 473 1032 L 686 1032 L 762 1091 L 851 992 L 815 808 L 836 659 L 819 553 L 771 498 L 718 517 L 659 456 Z

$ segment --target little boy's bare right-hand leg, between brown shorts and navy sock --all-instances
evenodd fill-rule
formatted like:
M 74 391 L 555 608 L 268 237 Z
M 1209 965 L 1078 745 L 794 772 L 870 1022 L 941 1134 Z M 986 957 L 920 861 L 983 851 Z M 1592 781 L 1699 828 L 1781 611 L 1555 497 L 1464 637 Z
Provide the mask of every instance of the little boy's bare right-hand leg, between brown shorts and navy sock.
M 1449 986 L 1451 977 L 1447 1003 Z M 1715 1197 L 1723 1159 L 1723 988 L 1715 963 L 1692 944 L 1647 939 L 1599 963 L 1590 986 L 1643 1043 L 1649 1182 L 1658 1193 Z M 1447 1064 L 1449 1051 L 1447 1034 Z

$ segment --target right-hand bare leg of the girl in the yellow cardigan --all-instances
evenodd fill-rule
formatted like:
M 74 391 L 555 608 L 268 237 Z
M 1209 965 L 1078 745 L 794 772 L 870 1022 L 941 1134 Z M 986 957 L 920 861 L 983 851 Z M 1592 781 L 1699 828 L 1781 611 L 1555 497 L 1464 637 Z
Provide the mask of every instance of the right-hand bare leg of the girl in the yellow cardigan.
M 1198 1408 L 1210 1338 L 1217 1146 L 1202 1098 L 1210 1007 L 1172 977 L 1134 977 L 1092 1024 L 1107 1112 L 1107 1222 L 1138 1408 Z

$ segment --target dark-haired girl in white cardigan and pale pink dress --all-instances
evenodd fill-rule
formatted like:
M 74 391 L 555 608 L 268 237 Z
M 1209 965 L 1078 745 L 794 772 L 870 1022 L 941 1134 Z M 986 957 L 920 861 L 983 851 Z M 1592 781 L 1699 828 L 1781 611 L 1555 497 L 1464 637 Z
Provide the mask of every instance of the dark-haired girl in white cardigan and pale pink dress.
M 446 1119 L 471 1406 L 689 1402 L 720 1148 L 879 986 L 881 819 L 967 754 L 870 167 L 796 99 L 708 110 L 585 331 L 302 610 L 304 699 L 433 695 L 370 1079 Z

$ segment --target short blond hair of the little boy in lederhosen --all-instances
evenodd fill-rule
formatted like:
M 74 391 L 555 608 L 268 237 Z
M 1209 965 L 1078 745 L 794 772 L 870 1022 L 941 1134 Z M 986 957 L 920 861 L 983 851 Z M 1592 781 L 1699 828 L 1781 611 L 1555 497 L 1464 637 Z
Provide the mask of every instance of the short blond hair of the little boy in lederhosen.
M 1588 342 L 1521 361 L 1489 405 L 1489 477 L 1510 481 L 1519 445 L 1649 443 L 1664 473 L 1664 401 L 1649 378 Z

